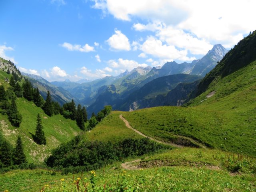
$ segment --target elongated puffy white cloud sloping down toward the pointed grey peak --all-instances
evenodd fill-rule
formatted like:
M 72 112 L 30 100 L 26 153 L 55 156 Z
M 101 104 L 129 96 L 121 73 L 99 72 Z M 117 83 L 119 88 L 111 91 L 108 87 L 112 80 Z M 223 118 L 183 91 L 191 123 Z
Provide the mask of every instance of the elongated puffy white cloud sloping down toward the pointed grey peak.
M 187 50 L 177 50 L 173 45 L 162 44 L 162 41 L 154 38 L 153 36 L 148 37 L 148 39 L 142 44 L 141 50 L 146 54 L 151 54 L 152 56 L 158 58 L 168 58 L 171 60 L 181 60 L 181 61 L 192 61 L 196 58 L 188 58 Z

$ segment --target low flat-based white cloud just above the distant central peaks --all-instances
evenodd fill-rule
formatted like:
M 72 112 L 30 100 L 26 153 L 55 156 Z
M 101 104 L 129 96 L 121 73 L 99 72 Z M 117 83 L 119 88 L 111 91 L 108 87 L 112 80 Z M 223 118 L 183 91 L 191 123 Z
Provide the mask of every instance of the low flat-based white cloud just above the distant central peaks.
M 122 58 L 119 58 L 117 61 L 109 60 L 108 64 L 112 68 L 119 68 L 119 70 L 122 70 L 122 71 L 125 71 L 126 69 L 130 71 L 137 67 L 147 67 L 148 66 L 145 63 L 139 64 L 138 62 L 136 62 L 134 60 L 127 60 L 127 59 L 124 60 Z

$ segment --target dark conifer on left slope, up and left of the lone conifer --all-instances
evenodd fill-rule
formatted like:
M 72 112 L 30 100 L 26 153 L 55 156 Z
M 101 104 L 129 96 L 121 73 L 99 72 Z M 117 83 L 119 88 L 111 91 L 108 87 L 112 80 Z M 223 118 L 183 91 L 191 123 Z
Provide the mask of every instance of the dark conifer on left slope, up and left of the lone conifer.
M 9 121 L 12 123 L 13 126 L 19 127 L 20 123 L 22 122 L 22 116 L 20 112 L 18 112 L 18 108 L 14 98 L 12 99 L 12 103 L 7 111 Z

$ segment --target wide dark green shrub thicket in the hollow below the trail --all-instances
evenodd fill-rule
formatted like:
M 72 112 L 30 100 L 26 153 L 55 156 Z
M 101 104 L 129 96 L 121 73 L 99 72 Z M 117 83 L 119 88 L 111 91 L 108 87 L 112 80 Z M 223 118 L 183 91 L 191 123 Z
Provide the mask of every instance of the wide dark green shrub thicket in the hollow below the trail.
M 120 143 L 84 142 L 77 136 L 67 144 L 61 144 L 46 160 L 50 167 L 85 166 L 86 169 L 98 169 L 106 164 L 132 155 L 143 155 L 166 148 L 148 138 L 125 139 Z

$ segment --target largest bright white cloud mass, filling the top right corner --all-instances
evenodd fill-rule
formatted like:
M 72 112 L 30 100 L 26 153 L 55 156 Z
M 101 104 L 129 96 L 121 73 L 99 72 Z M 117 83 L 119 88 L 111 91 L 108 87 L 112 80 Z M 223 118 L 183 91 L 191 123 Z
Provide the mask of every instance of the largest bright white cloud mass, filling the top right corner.
M 174 34 L 180 38 L 182 36 L 189 38 L 186 47 L 192 52 L 195 52 L 195 48 L 191 46 L 192 42 L 199 42 L 203 45 L 203 49 L 217 43 L 231 48 L 243 38 L 243 34 L 256 29 L 256 22 L 252 22 L 255 0 L 215 0 L 214 3 L 202 0 L 94 0 L 94 2 L 94 8 L 108 12 L 117 19 L 148 20 L 148 24 L 133 25 L 138 31 L 156 32 L 159 27 L 161 28 L 161 24 L 172 27 L 172 30 L 182 30 L 178 34 L 174 31 Z M 180 38 L 177 38 L 177 41 Z M 184 42 L 180 43 L 184 46 Z M 199 52 L 202 53 L 202 50 Z

